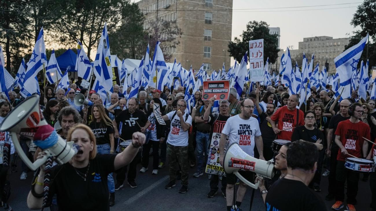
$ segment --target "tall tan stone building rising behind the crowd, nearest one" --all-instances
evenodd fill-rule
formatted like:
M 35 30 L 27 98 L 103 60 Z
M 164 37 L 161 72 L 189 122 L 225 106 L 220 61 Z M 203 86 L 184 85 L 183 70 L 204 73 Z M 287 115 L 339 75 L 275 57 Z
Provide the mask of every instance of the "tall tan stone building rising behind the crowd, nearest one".
M 204 63 L 204 68 L 211 72 L 225 63 L 229 69 L 227 45 L 231 41 L 232 0 L 141 0 L 137 4 L 145 15 L 145 30 L 157 18 L 173 21 L 171 26 L 181 29 L 181 38 L 176 38 L 180 44 L 166 53 L 176 57 L 184 68 L 192 65 L 198 70 Z

